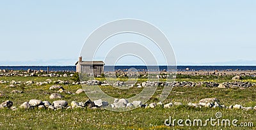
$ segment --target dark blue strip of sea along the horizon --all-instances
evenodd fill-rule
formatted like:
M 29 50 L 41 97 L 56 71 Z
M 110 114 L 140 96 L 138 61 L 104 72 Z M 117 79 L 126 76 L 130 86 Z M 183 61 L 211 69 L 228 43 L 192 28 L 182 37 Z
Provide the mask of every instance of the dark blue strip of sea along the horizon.
M 0 66 L 0 69 L 7 70 L 44 70 L 47 71 L 76 71 L 76 66 Z M 111 66 L 104 66 L 104 71 L 111 71 Z M 115 69 L 127 70 L 129 68 L 136 68 L 139 71 L 147 71 L 147 66 L 115 66 Z M 256 70 L 256 66 L 177 66 L 177 71 L 185 71 L 189 68 L 189 71 L 214 71 L 214 70 Z M 159 66 L 160 71 L 167 70 L 167 66 Z

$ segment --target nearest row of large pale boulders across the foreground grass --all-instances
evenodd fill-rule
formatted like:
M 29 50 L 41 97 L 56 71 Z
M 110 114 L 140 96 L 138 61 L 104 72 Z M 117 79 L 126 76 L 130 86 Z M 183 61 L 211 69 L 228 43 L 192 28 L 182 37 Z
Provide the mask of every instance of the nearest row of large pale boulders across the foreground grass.
M 74 108 L 105 108 L 105 107 L 111 107 L 113 109 L 115 108 L 135 108 L 135 107 L 141 107 L 141 108 L 156 108 L 156 106 L 159 106 L 161 108 L 172 108 L 173 106 L 181 106 L 182 103 L 180 102 L 174 102 L 174 103 L 167 103 L 163 104 L 161 102 L 159 103 L 150 103 L 143 105 L 141 101 L 132 101 L 132 103 L 129 103 L 127 99 L 115 99 L 115 101 L 111 104 L 109 104 L 107 101 L 102 101 L 102 99 L 98 99 L 95 101 L 91 101 L 88 99 L 85 102 L 77 102 L 72 101 L 70 103 L 70 106 L 68 106 L 68 102 L 65 100 L 57 100 L 50 103 L 49 101 L 41 101 L 38 99 L 31 99 L 29 101 L 26 101 L 22 103 L 22 105 L 19 106 L 20 109 L 32 109 L 32 108 L 38 108 L 38 109 L 48 109 L 48 110 L 60 110 L 60 109 L 74 109 Z M 196 108 L 225 108 L 225 109 L 243 109 L 243 110 L 256 110 L 256 106 L 252 107 L 244 107 L 242 105 L 230 105 L 225 106 L 221 105 L 220 100 L 217 98 L 205 98 L 201 99 L 199 103 L 188 103 L 188 105 L 185 106 L 191 106 Z M 17 110 L 16 106 L 13 106 L 12 101 L 4 101 L 0 104 L 0 108 L 9 108 L 11 110 Z

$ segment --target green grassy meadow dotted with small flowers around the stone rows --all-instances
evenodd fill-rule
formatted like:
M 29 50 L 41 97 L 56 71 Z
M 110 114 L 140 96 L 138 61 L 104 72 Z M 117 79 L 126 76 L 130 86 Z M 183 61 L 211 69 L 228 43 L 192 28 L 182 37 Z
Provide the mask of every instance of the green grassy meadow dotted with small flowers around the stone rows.
M 44 82 L 50 77 L 0 77 L 0 80 L 8 81 L 28 81 Z M 231 77 L 232 78 L 232 77 Z M 230 77 L 193 77 L 193 76 L 177 76 L 177 81 L 214 81 L 214 82 L 230 82 Z M 50 78 L 51 80 L 70 80 L 71 78 Z M 98 78 L 97 80 L 104 80 Z M 125 80 L 125 79 L 121 79 Z M 140 78 L 138 82 L 143 82 L 147 79 Z M 255 83 L 255 79 L 243 79 L 242 81 Z M 20 106 L 25 101 L 30 99 L 40 99 L 42 101 L 54 101 L 50 99 L 51 93 L 56 90 L 49 90 L 49 85 L 20 85 L 17 87 L 9 87 L 9 83 L 0 84 L 0 92 L 4 96 L 0 97 L 0 103 L 3 101 L 13 101 L 13 106 Z M 76 92 L 77 89 L 82 89 L 81 85 L 63 85 L 70 91 Z M 127 90 L 118 90 L 110 86 L 100 87 L 106 94 L 115 98 L 130 98 L 141 92 L 141 88 L 132 87 Z M 163 88 L 158 87 L 156 93 L 148 103 L 157 103 L 159 94 Z M 22 90 L 22 94 L 12 94 L 12 90 Z M 86 94 L 65 94 L 61 93 L 70 104 L 72 101 L 86 101 Z M 174 87 L 165 103 L 181 102 L 182 106 L 172 106 L 172 108 L 136 108 L 128 112 L 111 112 L 104 109 L 74 109 L 74 110 L 17 110 L 8 109 L 0 110 L 0 129 L 256 129 L 256 113 L 255 110 L 230 110 L 221 108 L 195 108 L 188 106 L 189 102 L 198 103 L 200 99 L 218 98 L 221 105 L 243 105 L 256 106 L 256 87 L 246 89 L 219 89 L 212 87 Z M 172 119 L 201 119 L 207 120 L 216 119 L 216 113 L 221 112 L 221 119 L 234 120 L 237 119 L 237 126 L 164 126 L 164 121 L 172 117 Z M 252 122 L 253 127 L 238 127 L 241 122 Z

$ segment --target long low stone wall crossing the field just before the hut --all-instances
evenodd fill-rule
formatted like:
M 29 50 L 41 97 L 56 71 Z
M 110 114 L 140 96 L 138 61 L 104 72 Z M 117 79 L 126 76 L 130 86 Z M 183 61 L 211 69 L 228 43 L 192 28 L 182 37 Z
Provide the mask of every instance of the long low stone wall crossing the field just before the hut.
M 47 85 L 50 83 L 54 84 L 61 84 L 61 85 L 110 85 L 107 81 L 100 82 L 99 80 L 88 80 L 88 81 L 83 81 L 83 82 L 70 82 L 70 81 L 63 81 L 63 80 L 55 80 L 52 81 L 50 79 L 45 80 L 45 82 L 33 82 L 32 80 L 21 82 L 21 81 L 4 81 L 1 80 L 0 83 L 8 83 L 10 84 L 10 87 L 15 87 L 16 85 Z M 239 81 L 234 81 L 234 82 L 223 82 L 223 83 L 217 83 L 217 82 L 142 82 L 142 83 L 136 83 L 135 84 L 125 84 L 125 82 L 115 82 L 113 83 L 114 86 L 129 86 L 129 87 L 148 87 L 148 86 L 164 86 L 164 85 L 170 85 L 172 87 L 195 87 L 195 86 L 204 86 L 204 87 L 220 87 L 220 88 L 232 88 L 232 87 L 252 87 L 255 86 L 255 83 L 250 83 L 250 82 L 239 82 Z M 52 88 L 54 89 L 54 88 Z M 61 89 L 61 88 L 56 88 L 56 89 Z

